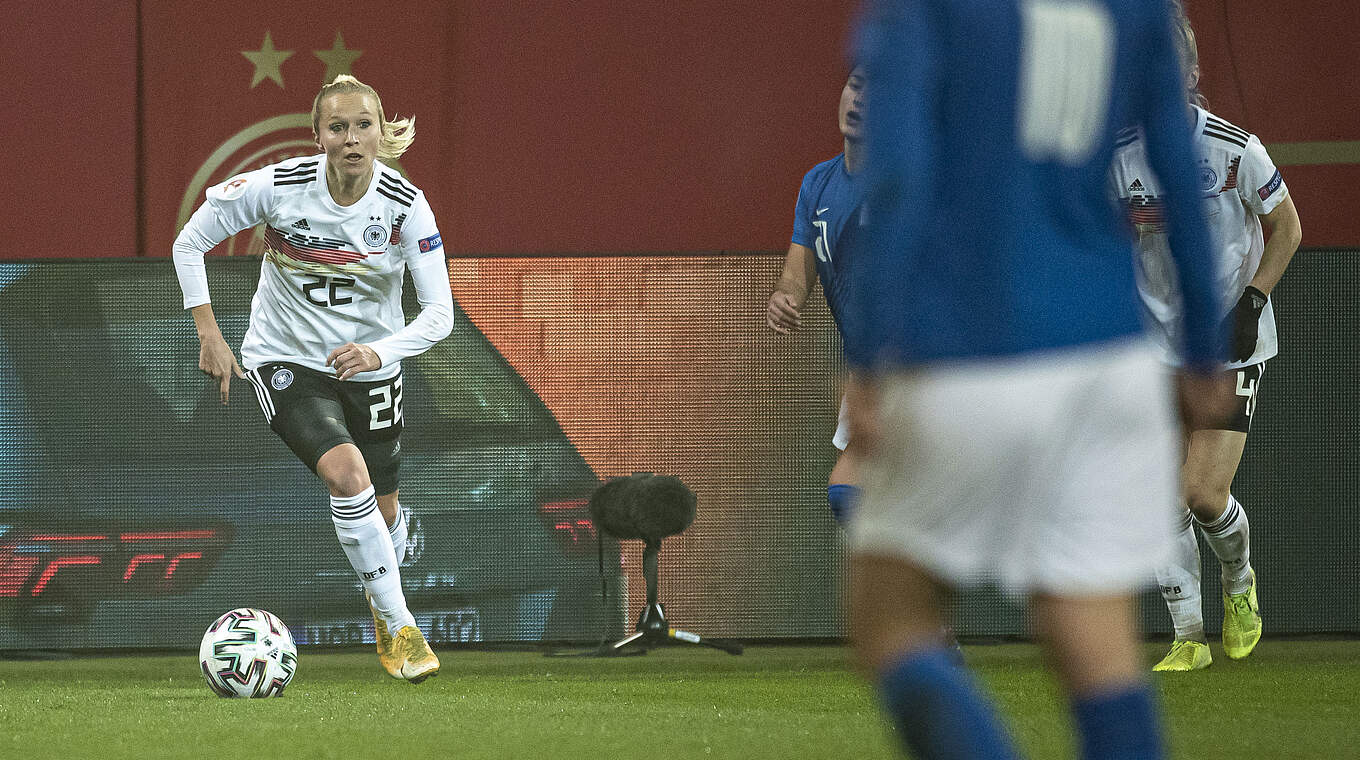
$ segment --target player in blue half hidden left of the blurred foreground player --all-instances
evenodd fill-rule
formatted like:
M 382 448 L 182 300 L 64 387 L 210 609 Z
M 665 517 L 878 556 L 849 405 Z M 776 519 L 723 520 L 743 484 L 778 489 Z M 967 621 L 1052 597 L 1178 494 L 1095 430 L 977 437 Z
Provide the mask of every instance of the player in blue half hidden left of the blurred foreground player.
M 766 306 L 766 324 L 777 333 L 787 334 L 801 324 L 800 313 L 812 294 L 815 280 L 831 309 L 831 318 L 840 325 L 845 303 L 845 243 L 858 227 L 860 189 L 853 175 L 860 169 L 860 129 L 864 121 L 864 69 L 855 67 L 840 88 L 836 122 L 843 139 L 843 150 L 832 159 L 812 167 L 802 178 L 798 203 L 793 216 L 793 242 L 783 260 L 783 273 Z M 845 523 L 854 503 L 855 447 L 842 405 L 836 432 L 831 443 L 840 450 L 827 485 L 827 502 L 836 522 Z

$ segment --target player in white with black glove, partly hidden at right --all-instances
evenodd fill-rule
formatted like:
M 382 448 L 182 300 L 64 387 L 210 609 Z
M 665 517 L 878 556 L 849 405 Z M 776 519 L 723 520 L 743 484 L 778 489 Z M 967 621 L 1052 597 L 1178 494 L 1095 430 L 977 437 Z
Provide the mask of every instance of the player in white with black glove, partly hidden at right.
M 1186 441 L 1182 481 L 1187 511 L 1176 528 L 1170 564 L 1157 571 L 1171 612 L 1175 642 L 1153 670 L 1198 670 L 1212 662 L 1200 597 L 1198 525 L 1223 567 L 1223 649 L 1240 659 L 1261 639 L 1255 571 L 1250 563 L 1247 515 L 1231 494 L 1266 359 L 1276 355 L 1270 291 L 1299 247 L 1302 227 L 1280 171 L 1254 135 L 1200 107 L 1200 61 L 1194 31 L 1182 14 L 1178 44 L 1195 120 L 1200 184 L 1214 232 L 1219 291 L 1225 329 L 1232 334 L 1227 364 L 1235 379 L 1238 413 L 1227 430 L 1194 430 Z M 1111 171 L 1111 192 L 1129 211 L 1138 232 L 1138 291 L 1152 317 L 1152 334 L 1164 360 L 1179 366 L 1179 298 L 1172 277 L 1161 201 L 1138 135 L 1121 139 Z M 1262 226 L 1270 232 L 1262 237 Z

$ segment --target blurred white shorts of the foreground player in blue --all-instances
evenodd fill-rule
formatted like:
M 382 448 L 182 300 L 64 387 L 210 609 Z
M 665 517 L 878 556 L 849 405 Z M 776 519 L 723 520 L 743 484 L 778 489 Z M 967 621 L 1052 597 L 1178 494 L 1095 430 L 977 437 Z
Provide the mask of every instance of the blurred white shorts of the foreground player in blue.
M 952 585 L 1102 595 L 1152 583 L 1179 506 L 1172 393 L 1145 340 L 884 379 L 851 551 Z

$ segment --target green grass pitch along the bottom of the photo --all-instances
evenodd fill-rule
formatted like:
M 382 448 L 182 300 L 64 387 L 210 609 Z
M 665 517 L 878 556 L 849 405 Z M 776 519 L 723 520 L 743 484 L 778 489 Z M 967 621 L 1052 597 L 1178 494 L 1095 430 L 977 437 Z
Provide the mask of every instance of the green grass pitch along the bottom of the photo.
M 1164 646 L 1148 644 L 1149 665 Z M 1072 757 L 1038 649 L 967 646 L 1028 757 Z M 445 651 L 390 678 L 371 651 L 303 650 L 282 699 L 226 700 L 192 653 L 0 661 L 0 757 L 896 757 L 840 647 L 613 659 Z M 1172 757 L 1360 757 L 1360 642 L 1265 642 L 1155 678 Z

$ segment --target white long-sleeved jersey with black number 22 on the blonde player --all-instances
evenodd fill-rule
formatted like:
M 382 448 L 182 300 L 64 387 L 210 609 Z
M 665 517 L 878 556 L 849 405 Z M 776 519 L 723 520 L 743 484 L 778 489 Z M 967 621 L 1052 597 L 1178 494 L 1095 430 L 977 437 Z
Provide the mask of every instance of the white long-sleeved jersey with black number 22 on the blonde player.
M 209 300 L 203 253 L 241 230 L 265 224 L 260 286 L 241 344 L 246 368 L 295 362 L 330 371 L 325 366 L 330 351 L 354 341 L 382 359 L 382 367 L 354 379 L 386 379 L 400 371 L 403 356 L 447 334 L 452 295 L 434 212 L 424 193 L 396 170 L 374 162 L 367 193 L 347 207 L 330 197 L 324 155 L 239 174 L 209 188 L 207 196 L 175 241 L 185 309 Z M 408 268 L 424 310 L 403 329 L 401 286 Z M 431 314 L 438 324 L 424 319 L 430 306 L 441 313 Z

